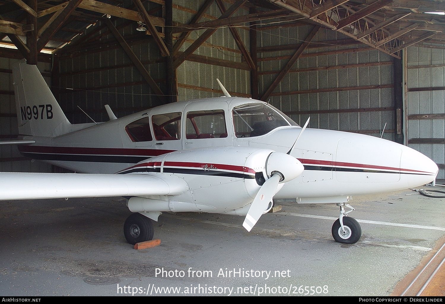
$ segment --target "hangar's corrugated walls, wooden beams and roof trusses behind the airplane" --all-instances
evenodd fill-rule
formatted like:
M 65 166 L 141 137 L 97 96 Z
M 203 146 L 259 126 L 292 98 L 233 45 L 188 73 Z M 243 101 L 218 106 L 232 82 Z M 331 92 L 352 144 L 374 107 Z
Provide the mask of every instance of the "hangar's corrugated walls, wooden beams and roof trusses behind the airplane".
M 309 127 L 380 136 L 445 178 L 445 4 L 433 0 L 1 0 L 0 139 L 26 58 L 71 123 L 222 95 Z M 85 113 L 83 113 L 85 111 Z M 0 146 L 1 171 L 58 170 Z M 440 180 L 441 179 L 441 180 Z

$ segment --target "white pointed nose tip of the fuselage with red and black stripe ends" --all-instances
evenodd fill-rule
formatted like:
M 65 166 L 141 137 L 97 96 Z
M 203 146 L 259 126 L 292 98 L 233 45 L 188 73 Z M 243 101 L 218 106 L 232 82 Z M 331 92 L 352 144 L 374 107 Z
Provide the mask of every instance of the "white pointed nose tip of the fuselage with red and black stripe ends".
M 424 154 L 404 146 L 400 160 L 400 173 L 404 176 L 407 188 L 433 182 L 439 168 L 436 163 Z

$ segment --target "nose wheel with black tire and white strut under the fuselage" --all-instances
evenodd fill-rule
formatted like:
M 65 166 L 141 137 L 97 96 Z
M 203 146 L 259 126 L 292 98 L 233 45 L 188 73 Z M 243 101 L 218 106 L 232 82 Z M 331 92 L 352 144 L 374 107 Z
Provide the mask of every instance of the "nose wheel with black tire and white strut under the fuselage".
M 353 244 L 361 237 L 360 224 L 350 216 L 346 216 L 349 212 L 354 211 L 347 203 L 337 204 L 340 207 L 340 217 L 332 225 L 332 236 L 338 243 Z M 344 211 L 344 207 L 348 207 L 351 210 Z

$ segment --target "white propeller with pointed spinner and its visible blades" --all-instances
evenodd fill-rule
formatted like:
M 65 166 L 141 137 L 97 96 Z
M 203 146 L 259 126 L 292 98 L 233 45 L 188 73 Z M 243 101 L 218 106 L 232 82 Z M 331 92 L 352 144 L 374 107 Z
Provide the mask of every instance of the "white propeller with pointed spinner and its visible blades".
M 307 119 L 306 124 L 303 126 L 303 129 L 301 130 L 294 144 L 291 146 L 289 152 L 286 154 L 281 152 L 272 152 L 267 158 L 266 171 L 270 177 L 259 188 L 259 191 L 256 194 L 249 211 L 247 211 L 246 218 L 243 222 L 243 227 L 246 228 L 247 231 L 252 230 L 261 215 L 263 215 L 263 212 L 266 211 L 269 203 L 272 201 L 275 193 L 278 191 L 279 183 L 289 182 L 303 172 L 304 167 L 302 163 L 290 154 L 301 134 L 306 129 L 308 123 L 309 119 Z

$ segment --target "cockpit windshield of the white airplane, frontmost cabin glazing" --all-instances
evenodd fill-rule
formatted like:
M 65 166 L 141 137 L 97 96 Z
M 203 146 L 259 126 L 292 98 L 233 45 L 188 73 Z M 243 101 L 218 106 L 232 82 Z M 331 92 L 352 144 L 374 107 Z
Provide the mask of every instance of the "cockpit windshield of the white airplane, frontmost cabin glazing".
M 298 126 L 279 109 L 263 103 L 239 105 L 232 115 L 236 137 L 259 136 L 280 126 Z

